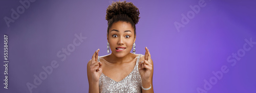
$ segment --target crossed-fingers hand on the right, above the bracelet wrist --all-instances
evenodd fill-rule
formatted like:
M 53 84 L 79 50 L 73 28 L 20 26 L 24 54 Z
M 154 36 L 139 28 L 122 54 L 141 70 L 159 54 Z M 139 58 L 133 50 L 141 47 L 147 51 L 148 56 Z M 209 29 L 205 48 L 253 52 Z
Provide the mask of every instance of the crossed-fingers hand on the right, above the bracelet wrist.
M 139 62 L 139 73 L 142 80 L 150 80 L 150 74 L 152 71 L 151 55 L 147 48 L 145 48 L 145 50 L 144 60 Z

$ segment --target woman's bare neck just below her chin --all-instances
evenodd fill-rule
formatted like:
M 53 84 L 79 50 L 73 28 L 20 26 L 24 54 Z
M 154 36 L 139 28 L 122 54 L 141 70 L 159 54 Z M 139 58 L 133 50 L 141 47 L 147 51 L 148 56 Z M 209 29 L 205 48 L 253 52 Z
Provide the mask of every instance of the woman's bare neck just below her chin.
M 132 53 L 129 53 L 127 55 L 125 55 L 124 57 L 116 57 L 114 54 L 110 54 L 109 56 L 109 60 L 111 63 L 125 63 L 125 62 L 130 62 L 132 61 L 135 57 L 135 55 Z

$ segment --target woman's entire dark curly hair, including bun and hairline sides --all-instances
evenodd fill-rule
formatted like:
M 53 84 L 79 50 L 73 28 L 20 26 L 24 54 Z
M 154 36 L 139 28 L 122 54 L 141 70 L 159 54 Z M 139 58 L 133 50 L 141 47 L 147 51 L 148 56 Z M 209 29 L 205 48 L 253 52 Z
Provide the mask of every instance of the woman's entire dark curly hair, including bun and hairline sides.
M 133 5 L 131 2 L 113 2 L 106 9 L 106 20 L 108 20 L 108 31 L 109 34 L 110 27 L 117 21 L 129 22 L 134 28 L 134 35 L 136 35 L 136 27 L 139 21 L 139 9 Z

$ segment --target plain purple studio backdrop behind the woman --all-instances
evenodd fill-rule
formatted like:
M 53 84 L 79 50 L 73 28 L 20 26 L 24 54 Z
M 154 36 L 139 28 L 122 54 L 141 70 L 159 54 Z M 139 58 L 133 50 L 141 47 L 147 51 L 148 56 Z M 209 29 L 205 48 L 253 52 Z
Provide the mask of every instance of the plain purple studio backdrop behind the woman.
M 150 50 L 155 92 L 256 92 L 256 1 L 127 2 L 140 11 L 136 54 Z M 1 1 L 0 92 L 88 92 L 88 61 L 108 54 L 111 3 Z

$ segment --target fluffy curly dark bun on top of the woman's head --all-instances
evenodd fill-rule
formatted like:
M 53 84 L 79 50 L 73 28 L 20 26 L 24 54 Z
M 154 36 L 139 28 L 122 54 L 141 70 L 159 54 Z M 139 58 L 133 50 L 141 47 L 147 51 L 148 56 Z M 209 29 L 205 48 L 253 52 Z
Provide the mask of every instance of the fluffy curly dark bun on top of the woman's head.
M 113 2 L 112 5 L 106 9 L 106 20 L 110 21 L 114 16 L 118 15 L 127 15 L 136 25 L 140 18 L 139 14 L 139 9 L 131 2 Z

